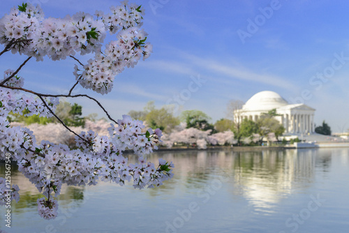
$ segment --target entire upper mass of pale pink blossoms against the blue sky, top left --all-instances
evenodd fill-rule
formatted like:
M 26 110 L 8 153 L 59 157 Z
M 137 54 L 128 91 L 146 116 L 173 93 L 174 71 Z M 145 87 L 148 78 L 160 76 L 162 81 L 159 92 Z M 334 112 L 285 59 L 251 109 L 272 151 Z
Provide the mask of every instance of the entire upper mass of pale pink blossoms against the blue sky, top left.
M 96 11 L 96 19 L 87 13 L 45 19 L 40 6 L 27 3 L 25 8 L 13 8 L 0 19 L 0 44 L 10 45 L 13 53 L 36 57 L 37 61 L 43 61 L 45 56 L 56 61 L 76 52 L 94 52 L 94 59 L 81 70 L 75 66 L 74 75 L 82 87 L 108 93 L 115 75 L 152 52 L 150 43 L 145 43 L 147 33 L 140 29 L 142 14 L 140 6 L 129 6 L 124 1 L 121 6 L 111 7 L 108 14 Z M 117 40 L 102 51 L 107 31 L 116 34 Z

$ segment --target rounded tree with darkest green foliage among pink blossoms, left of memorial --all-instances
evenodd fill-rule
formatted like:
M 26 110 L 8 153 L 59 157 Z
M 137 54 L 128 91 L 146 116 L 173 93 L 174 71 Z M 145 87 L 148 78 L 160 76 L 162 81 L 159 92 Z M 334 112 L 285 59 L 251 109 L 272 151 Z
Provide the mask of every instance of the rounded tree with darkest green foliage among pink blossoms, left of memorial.
M 211 117 L 200 110 L 186 110 L 181 113 L 181 120 L 186 121 L 186 128 L 198 128 L 199 130 L 212 130 L 214 126 L 209 123 Z

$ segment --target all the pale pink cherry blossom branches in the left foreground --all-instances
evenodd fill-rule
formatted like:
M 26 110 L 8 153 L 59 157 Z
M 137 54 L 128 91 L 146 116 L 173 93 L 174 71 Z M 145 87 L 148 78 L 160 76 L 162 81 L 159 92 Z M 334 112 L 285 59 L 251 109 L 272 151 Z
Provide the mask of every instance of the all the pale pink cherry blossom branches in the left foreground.
M 141 6 L 128 5 L 111 7 L 109 13 L 76 13 L 63 19 L 44 18 L 39 6 L 23 3 L 13 8 L 0 19 L 0 43 L 4 46 L 1 59 L 6 52 L 22 54 L 26 59 L 16 70 L 6 70 L 0 81 L 0 159 L 10 154 L 20 172 L 45 195 L 38 199 L 38 213 L 45 219 L 57 216 L 57 200 L 63 183 L 67 185 L 95 185 L 99 179 L 113 181 L 123 186 L 133 181 L 135 188 L 153 188 L 172 178 L 173 164 L 160 159 L 159 164 L 147 162 L 144 155 L 157 149 L 161 130 L 148 129 L 142 133 L 142 121 L 133 121 L 126 115 L 114 120 L 95 98 L 84 94 L 73 95 L 77 85 L 101 94 L 112 91 L 114 77 L 125 67 L 133 67 L 138 61 L 147 59 L 151 45 L 146 43 L 147 33 L 141 28 L 144 10 Z M 115 40 L 105 45 L 107 33 Z M 76 54 L 94 54 L 93 59 L 82 63 Z M 20 70 L 30 59 L 43 61 L 74 59 L 75 84 L 68 94 L 53 95 L 38 93 L 24 88 Z M 59 98 L 88 98 L 95 102 L 112 121 L 109 136 L 93 131 L 75 132 L 57 117 L 55 108 Z M 65 144 L 49 141 L 36 142 L 31 130 L 20 126 L 10 127 L 6 117 L 9 112 L 41 117 L 56 117 L 75 135 L 78 149 L 69 149 Z M 122 156 L 125 149 L 138 154 L 139 163 L 128 164 Z M 19 199 L 17 186 L 6 193 L 5 182 L 0 179 L 0 204 L 8 198 Z

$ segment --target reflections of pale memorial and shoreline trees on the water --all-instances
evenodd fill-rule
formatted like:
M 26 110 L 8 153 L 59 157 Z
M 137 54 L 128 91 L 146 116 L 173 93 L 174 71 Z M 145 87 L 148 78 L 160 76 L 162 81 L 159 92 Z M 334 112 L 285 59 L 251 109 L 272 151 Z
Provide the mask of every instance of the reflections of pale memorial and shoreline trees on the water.
M 270 211 L 274 204 L 292 192 L 311 186 L 315 167 L 327 172 L 331 165 L 332 151 L 284 150 L 284 151 L 182 151 L 173 153 L 153 153 L 148 160 L 156 161 L 165 157 L 174 162 L 174 178 L 160 188 L 147 190 L 147 194 L 156 197 L 164 193 L 195 193 L 205 187 L 216 176 L 226 176 L 225 183 L 232 190 L 232 195 L 243 196 L 259 210 Z M 343 156 L 347 160 L 348 156 Z M 130 155 L 130 161 L 137 157 Z M 5 167 L 0 166 L 0 174 L 5 174 Z M 11 166 L 12 183 L 20 186 L 20 202 L 14 204 L 15 211 L 36 206 L 41 197 L 20 172 L 17 166 Z M 101 186 L 110 185 L 101 183 Z M 234 188 L 233 188 L 234 187 Z M 70 201 L 83 200 L 84 187 L 63 186 L 59 200 L 68 204 Z

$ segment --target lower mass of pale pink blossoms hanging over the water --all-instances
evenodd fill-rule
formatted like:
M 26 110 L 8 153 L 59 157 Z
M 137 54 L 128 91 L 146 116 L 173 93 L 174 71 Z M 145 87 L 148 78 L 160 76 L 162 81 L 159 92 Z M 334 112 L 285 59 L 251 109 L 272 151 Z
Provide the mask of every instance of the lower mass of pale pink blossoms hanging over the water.
M 8 125 L 6 119 L 1 120 L 1 123 Z M 13 160 L 18 162 L 18 170 L 35 184 L 47 197 L 47 201 L 52 201 L 52 193 L 59 195 L 62 183 L 74 186 L 94 185 L 101 178 L 102 181 L 114 181 L 124 185 L 125 181 L 133 179 L 133 186 L 142 189 L 160 186 L 163 181 L 172 178 L 172 163 L 163 163 L 160 160 L 156 167 L 142 156 L 156 149 L 161 130 L 153 132 L 149 129 L 147 133 L 142 134 L 142 122 L 133 121 L 128 116 L 123 116 L 118 123 L 119 126 L 110 127 L 110 137 L 99 136 L 91 131 L 80 133 L 82 139 L 76 137 L 76 141 L 82 151 L 70 150 L 64 144 L 57 145 L 47 141 L 37 145 L 31 131 L 20 127 L 3 127 L 6 130 L 3 131 L 4 135 L 22 140 L 11 140 L 12 144 L 17 145 L 15 149 L 11 149 L 12 144 L 6 146 L 3 143 L 1 148 L 5 152 L 13 153 Z M 125 149 L 133 149 L 138 153 L 139 163 L 128 164 L 127 158 L 122 156 Z M 52 212 L 45 212 L 40 211 L 40 208 L 40 214 L 47 213 L 46 219 L 55 216 L 52 214 L 54 209 Z

